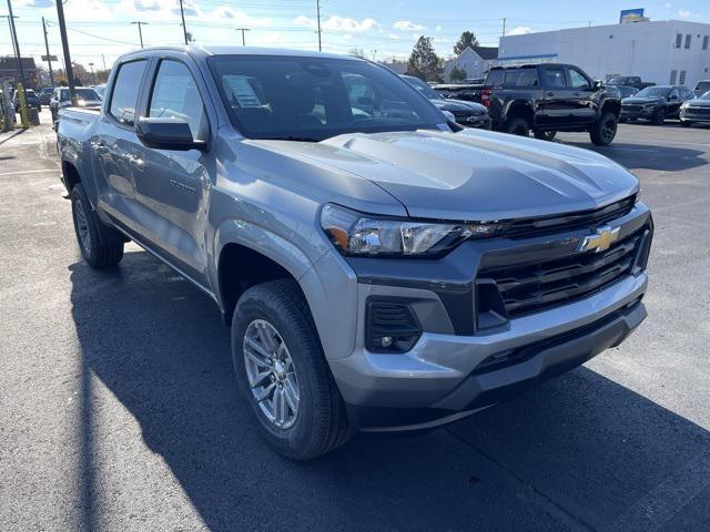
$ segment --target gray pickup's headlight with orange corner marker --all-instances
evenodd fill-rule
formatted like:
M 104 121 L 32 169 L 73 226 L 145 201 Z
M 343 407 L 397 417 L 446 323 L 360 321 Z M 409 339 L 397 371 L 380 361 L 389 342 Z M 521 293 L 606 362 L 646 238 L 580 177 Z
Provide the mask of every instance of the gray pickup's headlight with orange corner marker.
M 466 238 L 493 236 L 501 228 L 496 223 L 375 218 L 333 204 L 321 211 L 321 226 L 343 254 L 393 256 L 437 255 Z

